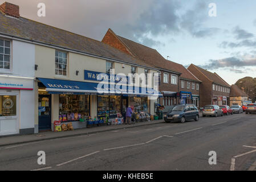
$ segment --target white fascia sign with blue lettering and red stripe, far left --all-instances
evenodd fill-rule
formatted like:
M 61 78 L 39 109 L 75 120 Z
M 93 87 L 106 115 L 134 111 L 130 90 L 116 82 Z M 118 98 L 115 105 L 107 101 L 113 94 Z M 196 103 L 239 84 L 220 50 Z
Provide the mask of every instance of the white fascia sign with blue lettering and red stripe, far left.
M 0 77 L 0 89 L 32 90 L 33 81 L 32 79 Z

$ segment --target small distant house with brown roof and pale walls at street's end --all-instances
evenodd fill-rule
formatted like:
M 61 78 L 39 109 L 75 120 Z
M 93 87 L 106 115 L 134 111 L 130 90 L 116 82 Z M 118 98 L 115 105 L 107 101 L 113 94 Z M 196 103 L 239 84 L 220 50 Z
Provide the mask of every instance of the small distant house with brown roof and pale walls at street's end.
M 249 101 L 249 96 L 239 89 L 237 85 L 231 85 L 230 89 L 230 105 L 240 105 L 247 104 Z

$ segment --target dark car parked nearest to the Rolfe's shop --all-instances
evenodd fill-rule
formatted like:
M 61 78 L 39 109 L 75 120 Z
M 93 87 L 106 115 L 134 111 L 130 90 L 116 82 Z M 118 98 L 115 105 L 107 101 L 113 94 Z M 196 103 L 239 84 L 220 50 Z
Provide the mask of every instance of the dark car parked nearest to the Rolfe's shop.
M 199 111 L 193 104 L 177 105 L 172 111 L 164 117 L 164 121 L 169 122 L 181 122 L 184 123 L 190 119 L 199 121 Z

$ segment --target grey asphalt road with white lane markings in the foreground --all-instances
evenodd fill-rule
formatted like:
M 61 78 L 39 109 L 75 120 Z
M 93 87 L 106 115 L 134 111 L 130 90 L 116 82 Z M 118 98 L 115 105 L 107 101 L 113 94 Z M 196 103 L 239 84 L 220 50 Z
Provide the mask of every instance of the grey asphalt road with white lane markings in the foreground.
M 247 170 L 255 131 L 256 114 L 234 114 L 44 140 L 0 148 L 0 170 Z M 37 163 L 38 151 L 46 165 Z M 209 151 L 217 164 L 209 164 Z

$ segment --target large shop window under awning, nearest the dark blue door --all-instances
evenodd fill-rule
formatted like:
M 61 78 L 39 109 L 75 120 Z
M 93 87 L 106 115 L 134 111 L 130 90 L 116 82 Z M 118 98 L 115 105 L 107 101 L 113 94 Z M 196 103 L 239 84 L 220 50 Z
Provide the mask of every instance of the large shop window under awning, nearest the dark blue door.
M 59 115 L 63 121 L 79 121 L 90 116 L 90 96 L 60 94 Z

